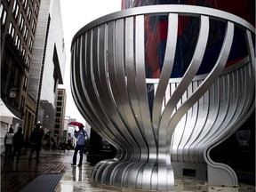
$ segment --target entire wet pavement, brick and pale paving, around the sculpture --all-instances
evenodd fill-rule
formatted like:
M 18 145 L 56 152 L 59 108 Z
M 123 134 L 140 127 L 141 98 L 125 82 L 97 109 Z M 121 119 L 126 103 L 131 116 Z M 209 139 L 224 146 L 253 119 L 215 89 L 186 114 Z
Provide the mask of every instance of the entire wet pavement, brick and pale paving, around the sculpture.
M 20 156 L 20 163 L 4 164 L 1 156 L 1 192 L 49 192 L 51 185 L 55 192 L 114 192 L 114 191 L 145 191 L 129 188 L 117 188 L 92 182 L 92 166 L 86 162 L 82 167 L 70 166 L 74 151 L 60 152 L 58 150 L 42 150 L 40 163 L 33 159 L 28 164 L 28 152 Z M 79 158 L 79 156 L 78 156 Z M 57 179 L 56 179 L 57 178 Z M 60 178 L 60 179 L 58 179 Z M 53 181 L 52 181 L 53 180 Z M 35 189 L 36 188 L 36 189 Z M 239 187 L 209 186 L 204 181 L 175 178 L 176 192 L 254 192 L 255 187 L 240 183 Z

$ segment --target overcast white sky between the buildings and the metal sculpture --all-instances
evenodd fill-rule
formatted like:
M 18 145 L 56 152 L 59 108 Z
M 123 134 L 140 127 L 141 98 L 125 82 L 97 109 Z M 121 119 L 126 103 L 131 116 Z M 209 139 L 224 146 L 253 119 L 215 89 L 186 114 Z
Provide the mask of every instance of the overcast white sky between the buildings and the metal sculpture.
M 108 13 L 121 10 L 121 0 L 60 0 L 63 23 L 64 40 L 66 45 L 65 80 L 61 88 L 67 90 L 67 104 L 65 116 L 76 118 L 84 124 L 84 118 L 78 112 L 70 91 L 70 46 L 73 36 L 92 20 L 96 20 Z

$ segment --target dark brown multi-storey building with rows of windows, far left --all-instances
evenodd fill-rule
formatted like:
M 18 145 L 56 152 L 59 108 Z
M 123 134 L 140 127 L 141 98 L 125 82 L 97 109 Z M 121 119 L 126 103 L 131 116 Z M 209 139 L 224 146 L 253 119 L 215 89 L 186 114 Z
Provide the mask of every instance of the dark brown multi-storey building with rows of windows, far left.
M 4 0 L 1 16 L 1 98 L 28 130 L 34 124 L 36 100 L 28 92 L 40 0 Z

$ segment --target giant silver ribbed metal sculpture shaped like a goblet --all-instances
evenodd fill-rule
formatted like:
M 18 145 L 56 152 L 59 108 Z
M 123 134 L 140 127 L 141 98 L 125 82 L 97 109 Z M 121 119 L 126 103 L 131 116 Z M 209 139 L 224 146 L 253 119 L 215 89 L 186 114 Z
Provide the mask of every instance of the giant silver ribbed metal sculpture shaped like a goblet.
M 145 18 L 160 15 L 168 20 L 163 67 L 159 78 L 149 78 Z M 184 75 L 170 78 L 180 15 L 199 23 L 197 41 L 189 47 L 193 55 Z M 202 60 L 216 22 L 224 28 L 218 57 L 209 72 L 198 75 L 207 65 Z M 242 31 L 247 56 L 227 67 L 236 30 Z M 127 188 L 173 189 L 174 174 L 196 164 L 196 172 L 204 172 L 197 178 L 237 185 L 236 172 L 213 162 L 209 153 L 254 109 L 252 36 L 252 25 L 233 14 L 189 5 L 132 8 L 81 28 L 72 42 L 73 97 L 92 128 L 117 149 L 114 159 L 94 166 L 92 180 Z

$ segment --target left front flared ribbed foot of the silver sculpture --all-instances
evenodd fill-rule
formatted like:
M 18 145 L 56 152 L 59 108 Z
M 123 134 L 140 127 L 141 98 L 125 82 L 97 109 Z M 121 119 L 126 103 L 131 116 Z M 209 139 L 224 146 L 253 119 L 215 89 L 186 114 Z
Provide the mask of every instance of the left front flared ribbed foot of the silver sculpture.
M 171 165 L 104 160 L 92 169 L 92 180 L 103 185 L 144 190 L 173 190 Z

